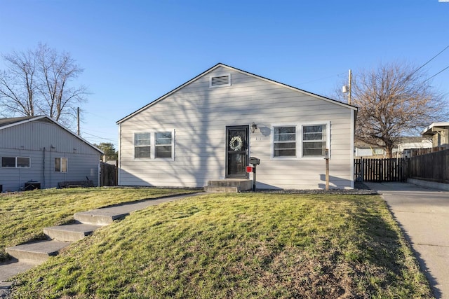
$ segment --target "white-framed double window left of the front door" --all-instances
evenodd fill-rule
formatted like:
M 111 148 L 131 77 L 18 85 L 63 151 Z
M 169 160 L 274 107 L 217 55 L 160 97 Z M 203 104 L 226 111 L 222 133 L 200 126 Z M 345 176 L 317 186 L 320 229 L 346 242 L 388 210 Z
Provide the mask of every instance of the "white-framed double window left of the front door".
M 145 132 L 134 134 L 135 159 L 173 159 L 173 133 Z

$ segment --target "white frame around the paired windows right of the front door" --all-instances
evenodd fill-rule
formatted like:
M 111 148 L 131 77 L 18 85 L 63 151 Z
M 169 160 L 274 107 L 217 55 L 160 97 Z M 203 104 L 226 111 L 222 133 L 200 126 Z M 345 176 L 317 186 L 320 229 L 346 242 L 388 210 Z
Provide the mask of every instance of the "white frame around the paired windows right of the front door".
M 311 125 L 326 125 L 326 148 L 329 150 L 330 158 L 330 121 L 311 121 L 304 123 L 274 123 L 272 124 L 272 139 L 271 139 L 271 158 L 273 160 L 322 160 L 322 156 L 304 156 L 303 155 L 303 140 L 302 128 Z M 296 155 L 295 156 L 274 156 L 274 128 L 275 127 L 296 127 Z

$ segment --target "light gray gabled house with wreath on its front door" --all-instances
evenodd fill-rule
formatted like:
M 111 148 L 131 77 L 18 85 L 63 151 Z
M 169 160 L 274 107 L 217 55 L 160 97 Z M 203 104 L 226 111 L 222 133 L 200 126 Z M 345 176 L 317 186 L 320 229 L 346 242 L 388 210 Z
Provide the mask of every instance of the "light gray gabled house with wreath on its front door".
M 354 188 L 356 111 L 217 64 L 117 121 L 119 185 L 247 179 L 256 157 L 257 188 L 325 188 L 328 148 L 330 188 Z

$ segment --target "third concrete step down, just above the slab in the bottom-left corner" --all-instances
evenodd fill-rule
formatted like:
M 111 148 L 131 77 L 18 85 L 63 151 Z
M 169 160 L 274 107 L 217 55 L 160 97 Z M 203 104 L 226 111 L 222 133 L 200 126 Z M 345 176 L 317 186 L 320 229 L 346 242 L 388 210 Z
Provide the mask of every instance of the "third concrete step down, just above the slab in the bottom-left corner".
M 20 262 L 39 265 L 50 256 L 57 256 L 59 251 L 71 242 L 60 242 L 55 240 L 46 240 L 32 242 L 18 246 L 6 247 L 6 253 L 13 258 L 17 258 Z

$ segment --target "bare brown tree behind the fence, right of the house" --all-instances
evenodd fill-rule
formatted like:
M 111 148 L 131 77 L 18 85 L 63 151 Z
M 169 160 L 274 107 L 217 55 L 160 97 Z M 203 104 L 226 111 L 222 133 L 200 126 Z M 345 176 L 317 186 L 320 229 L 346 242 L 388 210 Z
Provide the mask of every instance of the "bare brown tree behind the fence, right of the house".
M 358 106 L 356 140 L 384 147 L 389 158 L 398 137 L 448 117 L 443 95 L 411 64 L 361 71 L 354 77 L 352 95 Z

